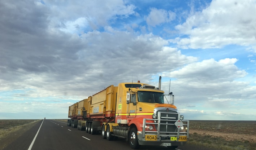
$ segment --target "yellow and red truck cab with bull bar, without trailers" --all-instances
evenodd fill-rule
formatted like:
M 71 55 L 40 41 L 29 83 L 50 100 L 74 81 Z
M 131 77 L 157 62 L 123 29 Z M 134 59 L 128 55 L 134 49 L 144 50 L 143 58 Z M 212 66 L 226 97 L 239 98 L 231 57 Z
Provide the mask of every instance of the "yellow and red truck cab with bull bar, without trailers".
M 120 83 L 116 107 L 113 135 L 127 133 L 133 149 L 139 145 L 175 149 L 187 141 L 188 121 L 183 120 L 176 106 L 165 103 L 164 91 L 159 88 L 143 83 Z

